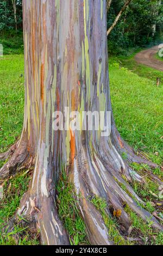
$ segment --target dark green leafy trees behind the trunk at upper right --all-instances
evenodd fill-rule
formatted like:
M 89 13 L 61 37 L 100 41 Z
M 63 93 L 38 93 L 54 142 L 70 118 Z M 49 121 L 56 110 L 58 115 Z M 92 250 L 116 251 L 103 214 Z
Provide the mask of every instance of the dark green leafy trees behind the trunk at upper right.
M 107 23 L 110 28 L 120 13 L 125 1 L 112 0 Z M 129 48 L 145 47 L 162 42 L 162 2 L 133 0 L 123 12 L 109 35 L 111 54 L 130 54 Z M 153 33 L 153 25 L 155 33 Z

